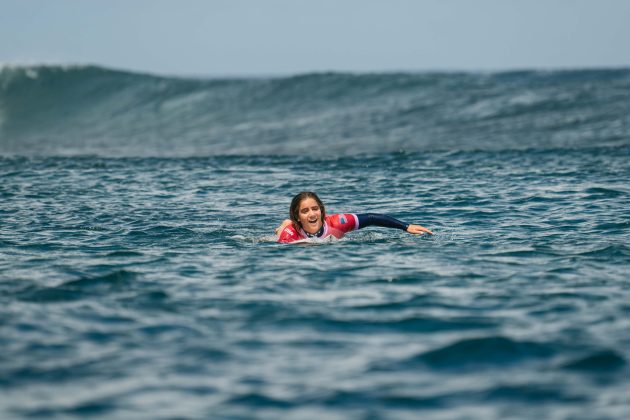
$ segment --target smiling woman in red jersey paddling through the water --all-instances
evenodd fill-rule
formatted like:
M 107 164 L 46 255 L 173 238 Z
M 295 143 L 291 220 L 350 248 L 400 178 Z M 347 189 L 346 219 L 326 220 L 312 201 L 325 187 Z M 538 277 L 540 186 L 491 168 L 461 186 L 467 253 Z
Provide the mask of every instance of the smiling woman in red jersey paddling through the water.
M 291 200 L 289 217 L 276 229 L 278 242 L 294 242 L 307 238 L 341 238 L 346 233 L 368 226 L 381 226 L 401 229 L 419 235 L 428 233 L 429 229 L 420 225 L 401 222 L 385 214 L 333 214 L 326 215 L 324 203 L 314 192 L 301 192 Z

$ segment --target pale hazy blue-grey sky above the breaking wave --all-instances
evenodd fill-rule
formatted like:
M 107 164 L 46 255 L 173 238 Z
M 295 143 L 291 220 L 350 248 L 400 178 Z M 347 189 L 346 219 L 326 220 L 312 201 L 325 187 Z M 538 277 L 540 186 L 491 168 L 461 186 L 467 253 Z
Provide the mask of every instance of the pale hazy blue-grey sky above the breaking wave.
M 630 66 L 630 0 L 0 0 L 0 63 L 181 75 Z

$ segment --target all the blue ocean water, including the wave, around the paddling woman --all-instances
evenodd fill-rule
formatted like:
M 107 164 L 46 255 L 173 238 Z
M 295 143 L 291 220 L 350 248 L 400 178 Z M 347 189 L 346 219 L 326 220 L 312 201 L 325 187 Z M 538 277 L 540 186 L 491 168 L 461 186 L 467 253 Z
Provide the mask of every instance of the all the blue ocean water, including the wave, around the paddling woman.
M 0 418 L 630 416 L 630 70 L 0 70 Z M 291 197 L 379 212 L 278 244 Z

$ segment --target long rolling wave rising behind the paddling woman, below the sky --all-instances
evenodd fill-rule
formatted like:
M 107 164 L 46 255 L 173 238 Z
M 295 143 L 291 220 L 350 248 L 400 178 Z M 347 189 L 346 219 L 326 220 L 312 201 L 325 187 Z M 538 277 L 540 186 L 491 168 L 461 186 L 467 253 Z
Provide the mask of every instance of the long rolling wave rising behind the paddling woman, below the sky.
M 0 154 L 354 155 L 616 147 L 630 70 L 161 77 L 0 68 Z

